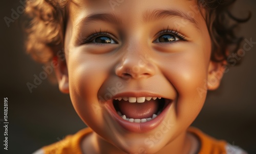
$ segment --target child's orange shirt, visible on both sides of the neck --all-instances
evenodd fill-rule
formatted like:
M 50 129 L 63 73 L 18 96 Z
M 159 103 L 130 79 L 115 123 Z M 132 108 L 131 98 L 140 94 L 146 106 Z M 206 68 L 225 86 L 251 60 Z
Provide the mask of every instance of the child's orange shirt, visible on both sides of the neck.
M 200 130 L 189 127 L 188 132 L 194 134 L 198 137 L 201 143 L 199 154 L 228 154 L 230 152 L 226 151 L 227 147 L 229 147 L 229 144 L 227 144 L 225 141 L 222 140 L 216 140 L 204 133 L 202 133 Z M 80 142 L 82 138 L 88 134 L 92 133 L 92 130 L 90 128 L 83 129 L 79 132 L 77 132 L 75 135 L 69 135 L 65 139 L 53 143 L 51 145 L 45 146 L 42 148 L 46 154 L 70 154 L 70 153 L 76 153 L 76 154 L 82 154 L 81 148 L 80 148 Z M 231 147 L 231 145 L 230 145 Z M 232 147 L 231 147 L 232 148 Z M 239 149 L 242 151 L 241 149 Z M 233 151 L 234 153 L 240 153 Z M 242 151 L 242 153 L 244 153 Z

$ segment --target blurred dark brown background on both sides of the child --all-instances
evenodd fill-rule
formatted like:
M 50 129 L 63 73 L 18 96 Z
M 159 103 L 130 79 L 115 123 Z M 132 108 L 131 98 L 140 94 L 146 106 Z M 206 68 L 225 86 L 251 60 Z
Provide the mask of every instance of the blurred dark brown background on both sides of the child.
M 27 82 L 33 83 L 33 75 L 39 75 L 43 70 L 41 64 L 26 55 L 19 23 L 16 20 L 10 22 L 8 28 L 4 20 L 5 16 L 11 17 L 11 9 L 16 10 L 19 6 L 22 6 L 19 1 L 7 0 L 3 0 L 0 6 L 0 119 L 4 119 L 4 97 L 9 100 L 8 151 L 4 150 L 4 127 L 0 121 L 0 153 L 32 153 L 86 126 L 76 115 L 69 95 L 60 93 L 58 86 L 52 85 L 48 79 L 43 80 L 32 93 L 27 88 Z M 238 0 L 233 12 L 244 17 L 248 10 L 252 12 L 252 18 L 242 24 L 240 33 L 255 42 L 256 2 Z M 255 46 L 245 53 L 241 65 L 224 74 L 221 87 L 209 92 L 206 104 L 193 124 L 249 153 L 256 153 Z

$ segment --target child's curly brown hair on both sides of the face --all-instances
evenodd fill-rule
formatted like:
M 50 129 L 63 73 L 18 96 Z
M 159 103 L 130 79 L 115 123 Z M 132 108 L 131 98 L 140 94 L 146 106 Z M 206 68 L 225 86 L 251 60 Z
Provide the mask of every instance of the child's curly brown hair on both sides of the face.
M 66 5 L 70 0 L 28 0 L 26 15 L 27 52 L 38 62 L 49 62 L 63 48 L 66 25 Z M 211 37 L 211 60 L 227 60 L 237 53 L 242 37 L 235 35 L 239 23 L 246 22 L 231 15 L 230 7 L 236 0 L 197 0 L 198 8 L 206 12 L 205 21 Z M 233 21 L 230 24 L 230 21 Z M 230 50 L 229 46 L 235 47 Z M 227 52 L 228 51 L 228 52 Z M 55 53 L 54 53 L 55 52 Z

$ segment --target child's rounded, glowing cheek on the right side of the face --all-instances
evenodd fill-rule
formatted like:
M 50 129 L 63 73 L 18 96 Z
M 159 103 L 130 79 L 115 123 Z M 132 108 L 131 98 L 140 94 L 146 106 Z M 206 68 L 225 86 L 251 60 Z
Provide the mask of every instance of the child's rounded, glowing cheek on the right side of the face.
M 194 120 L 204 104 L 208 68 L 205 49 L 193 46 L 190 50 L 165 57 L 161 65 L 162 72 L 178 94 L 175 104 L 178 121 L 179 118 L 188 122 Z

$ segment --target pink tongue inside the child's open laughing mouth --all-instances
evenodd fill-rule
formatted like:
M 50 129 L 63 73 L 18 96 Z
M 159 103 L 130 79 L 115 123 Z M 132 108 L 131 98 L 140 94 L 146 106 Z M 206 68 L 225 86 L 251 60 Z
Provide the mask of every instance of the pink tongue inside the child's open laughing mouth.
M 151 118 L 157 112 L 159 103 L 153 99 L 142 103 L 121 100 L 118 106 L 120 112 L 127 118 L 143 119 Z

